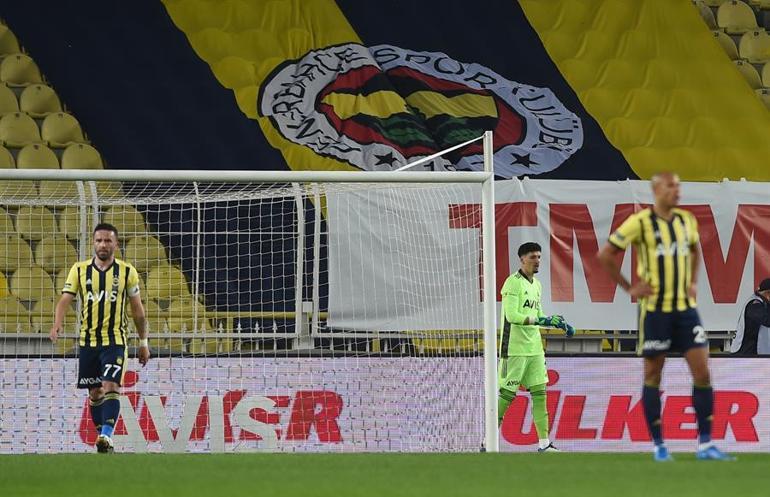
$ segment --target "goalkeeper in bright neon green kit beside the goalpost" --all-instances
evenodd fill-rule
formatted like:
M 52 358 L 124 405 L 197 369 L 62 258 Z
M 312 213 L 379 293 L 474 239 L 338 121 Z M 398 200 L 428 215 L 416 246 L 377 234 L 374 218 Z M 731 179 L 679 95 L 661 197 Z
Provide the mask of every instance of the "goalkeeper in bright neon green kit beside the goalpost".
M 575 328 L 561 316 L 545 316 L 540 308 L 540 282 L 535 273 L 540 268 L 540 245 L 527 242 L 519 247 L 521 268 L 505 280 L 503 297 L 498 365 L 497 424 L 503 416 L 520 385 L 532 397 L 532 418 L 538 437 L 538 452 L 559 452 L 548 439 L 548 411 L 546 410 L 545 386 L 548 373 L 545 352 L 540 338 L 540 327 L 560 328 L 571 337 Z

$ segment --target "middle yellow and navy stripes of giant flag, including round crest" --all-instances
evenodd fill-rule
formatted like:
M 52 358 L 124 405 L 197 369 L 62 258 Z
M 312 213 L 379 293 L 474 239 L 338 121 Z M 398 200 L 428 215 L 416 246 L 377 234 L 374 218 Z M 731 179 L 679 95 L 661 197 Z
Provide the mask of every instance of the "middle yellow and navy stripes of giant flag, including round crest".
M 464 2 L 164 4 L 292 169 L 391 170 L 492 130 L 498 177 L 636 177 L 515 2 L 473 24 Z M 480 142 L 425 165 L 482 167 Z

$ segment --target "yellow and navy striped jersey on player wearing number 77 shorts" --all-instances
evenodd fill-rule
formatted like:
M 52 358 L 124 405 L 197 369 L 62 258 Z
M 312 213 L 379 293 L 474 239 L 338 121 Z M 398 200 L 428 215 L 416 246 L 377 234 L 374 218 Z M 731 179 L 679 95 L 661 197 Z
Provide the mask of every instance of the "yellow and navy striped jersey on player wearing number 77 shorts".
M 125 345 L 128 332 L 126 302 L 139 294 L 139 273 L 131 264 L 115 259 L 104 271 L 93 259 L 76 262 L 62 293 L 80 295 L 80 346 Z

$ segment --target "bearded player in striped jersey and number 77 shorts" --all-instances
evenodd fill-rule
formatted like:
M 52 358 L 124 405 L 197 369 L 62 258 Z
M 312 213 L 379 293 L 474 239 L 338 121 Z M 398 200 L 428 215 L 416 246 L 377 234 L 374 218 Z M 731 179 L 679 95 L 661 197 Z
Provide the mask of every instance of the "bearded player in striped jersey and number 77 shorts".
M 67 308 L 79 296 L 82 303 L 79 338 L 78 388 L 87 388 L 91 419 L 96 425 L 96 449 L 113 451 L 112 433 L 120 414 L 120 385 L 126 372 L 128 316 L 126 302 L 139 335 L 137 351 L 144 366 L 150 358 L 147 321 L 139 295 L 139 274 L 131 264 L 115 258 L 118 230 L 110 224 L 94 228 L 95 257 L 75 263 L 70 269 L 50 337 L 62 332 Z

